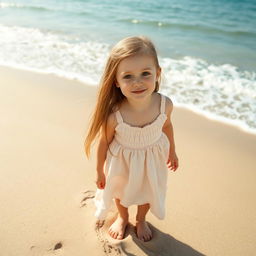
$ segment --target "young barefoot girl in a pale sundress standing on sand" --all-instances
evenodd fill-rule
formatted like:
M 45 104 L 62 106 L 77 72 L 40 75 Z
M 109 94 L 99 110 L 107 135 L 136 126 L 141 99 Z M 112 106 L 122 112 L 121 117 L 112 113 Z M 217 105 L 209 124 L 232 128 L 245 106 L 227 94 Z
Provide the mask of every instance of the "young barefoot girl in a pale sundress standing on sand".
M 167 171 L 178 168 L 170 120 L 173 104 L 157 92 L 160 74 L 152 42 L 128 37 L 113 47 L 101 79 L 85 150 L 89 157 L 99 135 L 95 215 L 104 220 L 115 201 L 119 214 L 109 228 L 115 239 L 123 239 L 128 207 L 134 204 L 138 238 L 152 238 L 146 214 L 150 209 L 164 218 Z

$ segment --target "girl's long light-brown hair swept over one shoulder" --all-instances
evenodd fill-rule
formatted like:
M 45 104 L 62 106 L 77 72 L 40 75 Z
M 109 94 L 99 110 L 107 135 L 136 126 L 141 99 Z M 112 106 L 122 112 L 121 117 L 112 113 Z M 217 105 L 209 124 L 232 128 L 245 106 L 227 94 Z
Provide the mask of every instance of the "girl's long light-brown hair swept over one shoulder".
M 125 98 L 119 88 L 116 87 L 116 72 L 118 64 L 125 58 L 137 54 L 146 54 L 153 57 L 156 68 L 160 68 L 157 53 L 153 43 L 144 36 L 127 37 L 119 41 L 111 50 L 105 70 L 100 81 L 95 111 L 93 113 L 90 128 L 85 139 L 85 152 L 90 156 L 90 148 L 93 141 L 100 134 L 101 129 L 107 127 L 109 115 Z M 159 83 L 156 82 L 155 92 L 159 90 Z

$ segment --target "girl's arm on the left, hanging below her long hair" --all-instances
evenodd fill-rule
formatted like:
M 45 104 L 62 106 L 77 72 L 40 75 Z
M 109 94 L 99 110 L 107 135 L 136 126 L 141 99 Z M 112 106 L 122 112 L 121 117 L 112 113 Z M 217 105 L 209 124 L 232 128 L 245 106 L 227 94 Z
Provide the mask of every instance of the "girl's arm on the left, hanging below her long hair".
M 105 174 L 103 172 L 104 163 L 107 157 L 108 144 L 110 144 L 114 138 L 115 126 L 116 126 L 116 119 L 114 117 L 114 114 L 112 113 L 110 114 L 107 121 L 107 130 L 106 130 L 107 133 L 105 133 L 104 129 L 101 130 L 101 136 L 100 136 L 99 145 L 97 149 L 96 184 L 99 189 L 104 189 L 105 187 L 106 181 L 105 181 Z

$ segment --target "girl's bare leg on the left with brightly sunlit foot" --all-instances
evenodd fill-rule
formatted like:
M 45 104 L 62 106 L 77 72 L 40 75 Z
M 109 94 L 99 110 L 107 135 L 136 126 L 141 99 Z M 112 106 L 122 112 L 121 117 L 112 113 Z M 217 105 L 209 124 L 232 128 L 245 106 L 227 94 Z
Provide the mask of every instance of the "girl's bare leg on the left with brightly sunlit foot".
M 128 208 L 123 207 L 120 204 L 119 199 L 115 199 L 115 202 L 116 202 L 116 206 L 119 214 L 116 220 L 114 221 L 114 223 L 110 226 L 108 233 L 110 234 L 111 237 L 121 240 L 124 237 L 125 228 L 128 224 L 129 214 L 128 214 Z

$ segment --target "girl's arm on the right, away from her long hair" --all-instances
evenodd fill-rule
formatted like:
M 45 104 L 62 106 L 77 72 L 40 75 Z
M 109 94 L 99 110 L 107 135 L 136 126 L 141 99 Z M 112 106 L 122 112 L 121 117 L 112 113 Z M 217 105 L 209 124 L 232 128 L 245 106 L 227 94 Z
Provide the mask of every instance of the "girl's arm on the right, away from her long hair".
M 167 161 L 168 168 L 176 171 L 176 169 L 179 166 L 178 163 L 178 157 L 175 152 L 175 142 L 174 142 L 174 135 L 173 135 L 173 126 L 171 122 L 171 113 L 173 110 L 173 103 L 171 99 L 166 97 L 166 114 L 167 114 L 167 119 L 163 125 L 163 132 L 166 134 L 166 136 L 169 139 L 170 143 L 170 149 L 169 149 L 169 158 Z

